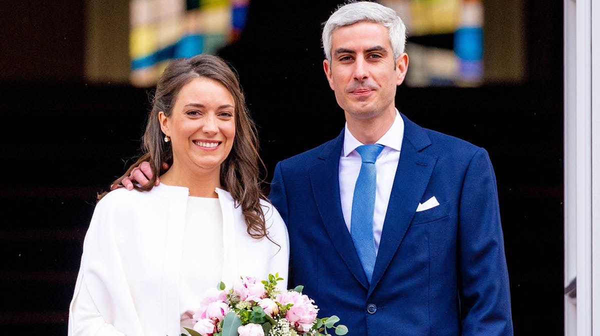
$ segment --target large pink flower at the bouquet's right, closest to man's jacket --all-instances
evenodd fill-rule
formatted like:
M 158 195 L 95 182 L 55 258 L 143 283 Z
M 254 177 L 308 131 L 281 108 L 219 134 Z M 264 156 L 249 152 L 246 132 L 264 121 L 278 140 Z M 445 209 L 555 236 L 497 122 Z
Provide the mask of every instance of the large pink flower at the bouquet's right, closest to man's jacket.
M 313 326 L 319 309 L 308 296 L 292 290 L 277 295 L 277 302 L 281 305 L 293 304 L 286 313 L 286 320 L 296 330 L 307 332 Z

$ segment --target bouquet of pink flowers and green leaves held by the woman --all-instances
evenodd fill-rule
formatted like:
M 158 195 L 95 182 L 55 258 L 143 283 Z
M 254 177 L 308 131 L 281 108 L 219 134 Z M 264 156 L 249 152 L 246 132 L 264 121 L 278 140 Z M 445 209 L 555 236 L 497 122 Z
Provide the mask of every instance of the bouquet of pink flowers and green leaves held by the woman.
M 194 313 L 182 317 L 190 336 L 329 336 L 331 329 L 345 335 L 348 328 L 335 325 L 333 315 L 318 318 L 319 308 L 302 294 L 303 286 L 283 292 L 277 289 L 278 273 L 268 280 L 241 277 L 233 288 L 221 282 L 211 289 Z M 181 334 L 181 336 L 187 336 Z

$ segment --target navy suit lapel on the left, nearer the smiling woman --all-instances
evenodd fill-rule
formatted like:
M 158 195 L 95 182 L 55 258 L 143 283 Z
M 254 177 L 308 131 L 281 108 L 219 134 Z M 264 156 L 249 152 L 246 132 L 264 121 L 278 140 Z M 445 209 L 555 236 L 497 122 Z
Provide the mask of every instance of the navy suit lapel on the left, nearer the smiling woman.
M 310 181 L 329 239 L 352 275 L 368 289 L 367 277 L 341 211 L 339 165 L 343 143 L 344 131 L 332 141 L 331 146 L 323 150 L 319 156 L 322 162 L 310 171 Z

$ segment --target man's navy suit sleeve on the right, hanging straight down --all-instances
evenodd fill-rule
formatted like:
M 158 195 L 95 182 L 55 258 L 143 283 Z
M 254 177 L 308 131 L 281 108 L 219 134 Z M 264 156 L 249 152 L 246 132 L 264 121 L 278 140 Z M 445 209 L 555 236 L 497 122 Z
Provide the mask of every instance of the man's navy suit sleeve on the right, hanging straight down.
M 484 149 L 464 178 L 458 228 L 462 334 L 512 335 L 511 299 L 496 177 Z

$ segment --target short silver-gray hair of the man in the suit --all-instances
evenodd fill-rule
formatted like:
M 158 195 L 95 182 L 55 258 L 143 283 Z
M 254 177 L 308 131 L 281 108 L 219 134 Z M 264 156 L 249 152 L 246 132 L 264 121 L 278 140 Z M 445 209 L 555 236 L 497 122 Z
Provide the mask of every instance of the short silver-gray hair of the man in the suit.
M 323 51 L 325 51 L 325 57 L 329 62 L 331 62 L 331 37 L 335 29 L 358 22 L 380 23 L 389 29 L 389 43 L 392 45 L 394 52 L 394 61 L 404 53 L 406 26 L 392 8 L 376 2 L 350 2 L 338 7 L 323 27 Z

